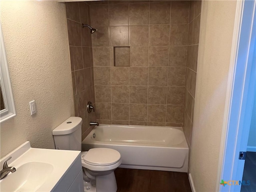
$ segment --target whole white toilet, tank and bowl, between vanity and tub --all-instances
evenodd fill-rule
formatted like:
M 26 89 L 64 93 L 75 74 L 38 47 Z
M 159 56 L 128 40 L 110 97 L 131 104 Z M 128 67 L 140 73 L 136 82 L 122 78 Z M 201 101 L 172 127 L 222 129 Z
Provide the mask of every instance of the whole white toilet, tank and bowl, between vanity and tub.
M 56 149 L 82 149 L 82 118 L 70 117 L 52 131 Z M 85 192 L 116 192 L 114 170 L 121 155 L 110 148 L 92 148 L 81 153 Z

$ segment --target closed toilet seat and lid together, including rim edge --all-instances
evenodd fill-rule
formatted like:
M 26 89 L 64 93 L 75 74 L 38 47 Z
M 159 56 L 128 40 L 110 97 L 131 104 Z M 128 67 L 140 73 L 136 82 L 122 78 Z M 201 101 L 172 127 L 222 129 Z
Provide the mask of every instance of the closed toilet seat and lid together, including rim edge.
M 110 148 L 92 148 L 81 154 L 82 166 L 92 171 L 116 169 L 122 162 L 118 151 Z

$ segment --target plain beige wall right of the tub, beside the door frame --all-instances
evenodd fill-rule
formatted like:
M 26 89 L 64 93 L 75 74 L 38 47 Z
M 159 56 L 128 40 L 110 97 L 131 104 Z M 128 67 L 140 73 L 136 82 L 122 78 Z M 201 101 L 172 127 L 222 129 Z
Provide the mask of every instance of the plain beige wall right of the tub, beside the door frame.
M 216 191 L 236 1 L 202 1 L 190 173 Z

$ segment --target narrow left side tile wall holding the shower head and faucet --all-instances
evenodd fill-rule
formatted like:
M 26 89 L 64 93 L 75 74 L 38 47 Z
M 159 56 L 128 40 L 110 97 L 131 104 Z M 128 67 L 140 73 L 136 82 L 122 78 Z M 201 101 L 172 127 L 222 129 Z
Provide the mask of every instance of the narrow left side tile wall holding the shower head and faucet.
M 66 16 L 75 116 L 83 120 L 83 140 L 93 128 L 89 126 L 89 122 L 96 121 L 96 113 L 89 114 L 86 110 L 88 101 L 95 106 L 92 38 L 90 29 L 82 28 L 82 23 L 90 24 L 89 6 L 85 2 L 68 2 L 66 3 Z

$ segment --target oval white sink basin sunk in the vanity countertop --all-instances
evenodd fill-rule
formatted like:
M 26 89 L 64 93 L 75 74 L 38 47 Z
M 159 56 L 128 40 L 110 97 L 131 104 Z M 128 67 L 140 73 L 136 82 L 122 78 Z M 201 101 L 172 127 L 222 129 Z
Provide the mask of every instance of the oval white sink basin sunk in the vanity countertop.
M 28 192 L 36 191 L 51 174 L 53 166 L 44 162 L 28 162 L 16 167 L 16 172 L 9 173 L 1 182 L 1 191 Z

